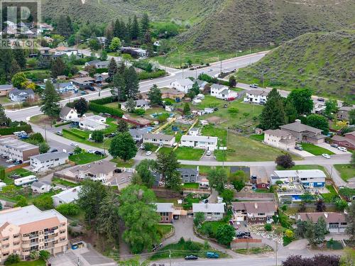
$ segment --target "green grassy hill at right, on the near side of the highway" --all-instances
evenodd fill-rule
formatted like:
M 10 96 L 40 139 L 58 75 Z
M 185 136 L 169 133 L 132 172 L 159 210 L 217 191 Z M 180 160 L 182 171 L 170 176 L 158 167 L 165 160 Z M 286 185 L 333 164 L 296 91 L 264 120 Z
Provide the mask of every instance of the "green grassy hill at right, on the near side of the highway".
M 239 70 L 239 81 L 355 101 L 355 31 L 307 33 Z

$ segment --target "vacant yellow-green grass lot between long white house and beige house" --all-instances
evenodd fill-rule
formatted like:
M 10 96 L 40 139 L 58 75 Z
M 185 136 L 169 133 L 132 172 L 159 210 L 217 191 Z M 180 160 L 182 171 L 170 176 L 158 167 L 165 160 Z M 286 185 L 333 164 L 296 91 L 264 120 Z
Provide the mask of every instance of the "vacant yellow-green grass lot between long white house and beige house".
M 278 155 L 283 152 L 277 148 L 264 145 L 260 141 L 236 135 L 228 134 L 228 150 L 216 150 L 214 155 L 219 162 L 258 162 L 258 161 L 274 161 Z M 300 157 L 291 155 L 293 160 L 300 160 Z

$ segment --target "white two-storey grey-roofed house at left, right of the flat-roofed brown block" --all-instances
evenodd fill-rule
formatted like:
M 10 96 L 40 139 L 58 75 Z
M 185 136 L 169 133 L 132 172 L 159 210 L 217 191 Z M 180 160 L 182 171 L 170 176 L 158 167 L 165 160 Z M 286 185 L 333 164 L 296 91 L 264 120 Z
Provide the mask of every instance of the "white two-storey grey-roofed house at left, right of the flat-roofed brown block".
M 59 165 L 65 165 L 68 155 L 64 152 L 43 153 L 30 157 L 33 172 L 44 172 Z

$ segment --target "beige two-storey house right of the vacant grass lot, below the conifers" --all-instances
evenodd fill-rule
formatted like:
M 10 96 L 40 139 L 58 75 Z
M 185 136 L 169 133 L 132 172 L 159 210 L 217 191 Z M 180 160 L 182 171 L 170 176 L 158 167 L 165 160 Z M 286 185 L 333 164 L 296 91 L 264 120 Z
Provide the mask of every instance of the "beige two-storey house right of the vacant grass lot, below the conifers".
M 290 150 L 295 148 L 296 139 L 290 131 L 268 129 L 264 131 L 264 143 L 283 150 Z

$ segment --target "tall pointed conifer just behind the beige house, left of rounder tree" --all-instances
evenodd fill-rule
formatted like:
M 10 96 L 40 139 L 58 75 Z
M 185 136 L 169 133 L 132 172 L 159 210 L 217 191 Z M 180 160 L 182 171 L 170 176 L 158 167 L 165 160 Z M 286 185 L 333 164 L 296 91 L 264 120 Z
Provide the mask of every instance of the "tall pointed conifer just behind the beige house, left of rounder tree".
M 261 128 L 276 129 L 285 124 L 285 111 L 283 109 L 283 98 L 277 89 L 268 94 L 268 101 L 260 116 Z

